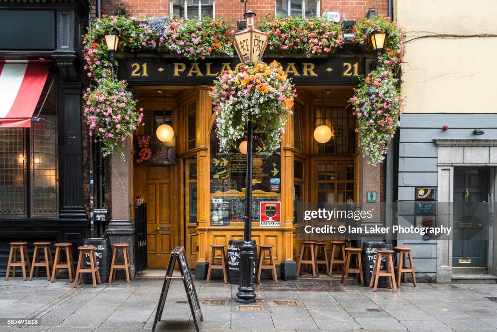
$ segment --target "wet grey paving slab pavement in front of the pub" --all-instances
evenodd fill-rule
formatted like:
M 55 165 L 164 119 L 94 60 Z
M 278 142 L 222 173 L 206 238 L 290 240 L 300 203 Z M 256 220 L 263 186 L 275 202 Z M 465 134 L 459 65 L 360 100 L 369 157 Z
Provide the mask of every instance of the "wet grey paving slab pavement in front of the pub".
M 0 280 L 0 331 L 150 332 L 163 278 L 130 284 L 81 285 L 45 278 Z M 435 286 L 435 287 L 433 287 Z M 497 284 L 402 285 L 373 292 L 338 277 L 320 276 L 256 285 L 257 302 L 236 299 L 238 285 L 195 281 L 205 332 L 497 331 Z M 174 281 L 157 331 L 195 331 L 183 284 Z M 250 309 L 250 310 L 247 310 Z M 37 320 L 13 325 L 7 319 Z

